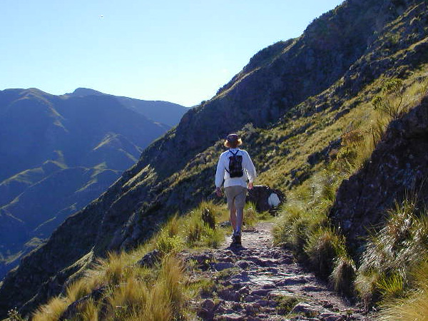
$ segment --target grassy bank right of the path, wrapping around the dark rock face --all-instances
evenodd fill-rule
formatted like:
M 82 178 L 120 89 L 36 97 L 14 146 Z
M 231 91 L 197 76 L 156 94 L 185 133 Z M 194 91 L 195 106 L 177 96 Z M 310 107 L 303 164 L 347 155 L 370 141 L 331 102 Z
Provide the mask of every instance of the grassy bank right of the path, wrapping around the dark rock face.
M 370 158 L 388 124 L 419 103 L 427 84 L 426 76 L 375 82 L 369 91 L 374 94 L 369 104 L 374 112 L 361 106 L 352 116 L 340 147 L 329 151 L 315 175 L 292 188 L 274 231 L 278 244 L 292 249 L 335 290 L 362 298 L 367 308 L 384 307 L 381 320 L 426 320 L 427 306 L 421 302 L 427 292 L 422 277 L 428 262 L 427 209 L 414 191 L 397 200 L 384 228 L 374 230 L 363 253 L 347 248 L 327 214 L 342 180 Z

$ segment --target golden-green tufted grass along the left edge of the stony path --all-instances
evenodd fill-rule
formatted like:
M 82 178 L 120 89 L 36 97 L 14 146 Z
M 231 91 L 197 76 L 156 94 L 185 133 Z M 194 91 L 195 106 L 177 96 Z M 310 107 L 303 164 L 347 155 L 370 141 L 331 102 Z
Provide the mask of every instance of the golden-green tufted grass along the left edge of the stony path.
M 245 218 L 247 227 L 258 220 L 253 205 L 245 208 Z M 225 205 L 211 202 L 200 203 L 187 215 L 174 215 L 136 250 L 98 258 L 62 295 L 39 307 L 32 320 L 193 320 L 190 298 L 213 285 L 210 280 L 189 277 L 191 267 L 178 253 L 217 248 L 229 231 L 219 223 L 227 220 Z M 16 310 L 9 317 L 20 320 Z

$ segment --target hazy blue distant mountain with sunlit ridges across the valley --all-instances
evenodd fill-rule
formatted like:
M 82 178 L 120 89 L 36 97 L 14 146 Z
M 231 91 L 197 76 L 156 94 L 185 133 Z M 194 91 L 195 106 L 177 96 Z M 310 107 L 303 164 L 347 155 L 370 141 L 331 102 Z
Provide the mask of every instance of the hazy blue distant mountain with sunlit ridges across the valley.
M 35 88 L 0 92 L 0 127 L 0 278 L 31 250 L 25 243 L 48 238 L 169 128 L 114 96 Z

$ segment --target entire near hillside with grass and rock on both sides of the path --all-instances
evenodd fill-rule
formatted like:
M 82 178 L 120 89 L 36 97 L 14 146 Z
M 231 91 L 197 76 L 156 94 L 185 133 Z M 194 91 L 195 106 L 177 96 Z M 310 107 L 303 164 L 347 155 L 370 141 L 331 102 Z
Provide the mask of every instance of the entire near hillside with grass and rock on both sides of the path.
M 16 306 L 37 320 L 194 320 L 185 302 L 212 281 L 186 277 L 192 266 L 170 253 L 223 240 L 203 213 L 226 220 L 213 179 L 231 131 L 256 183 L 286 195 L 277 245 L 366 312 L 396 320 L 408 304 L 427 315 L 414 308 L 426 290 L 427 15 L 422 0 L 345 1 L 255 54 L 7 275 L 2 315 Z M 155 249 L 161 263 L 138 266 Z

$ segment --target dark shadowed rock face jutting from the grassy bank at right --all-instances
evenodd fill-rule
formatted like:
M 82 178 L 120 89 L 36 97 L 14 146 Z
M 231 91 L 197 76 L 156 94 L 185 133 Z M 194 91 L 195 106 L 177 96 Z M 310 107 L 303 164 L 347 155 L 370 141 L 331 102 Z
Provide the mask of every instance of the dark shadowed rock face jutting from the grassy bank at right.
M 350 243 L 380 226 L 406 193 L 428 203 L 428 96 L 390 124 L 370 161 L 340 186 L 330 216 Z

